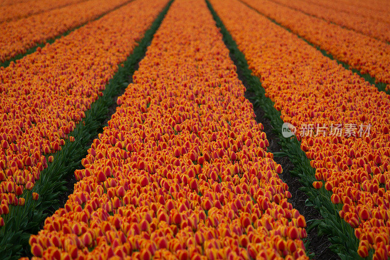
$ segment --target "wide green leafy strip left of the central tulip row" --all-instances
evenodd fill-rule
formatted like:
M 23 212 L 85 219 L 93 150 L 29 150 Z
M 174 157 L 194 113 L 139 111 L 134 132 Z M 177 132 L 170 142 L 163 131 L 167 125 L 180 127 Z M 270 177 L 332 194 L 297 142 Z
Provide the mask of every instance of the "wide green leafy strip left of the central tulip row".
M 4 215 L 5 225 L 0 228 L 0 256 L 2 260 L 18 259 L 21 255 L 30 254 L 28 240 L 31 234 L 37 234 L 40 223 L 46 216 L 59 208 L 59 195 L 66 190 L 65 176 L 73 174 L 81 159 L 90 148 L 90 141 L 103 127 L 102 123 L 108 113 L 108 107 L 115 104 L 113 98 L 120 94 L 129 84 L 134 71 L 146 52 L 147 47 L 158 29 L 161 21 L 171 6 L 171 0 L 158 15 L 151 27 L 145 32 L 133 53 L 119 66 L 118 72 L 109 81 L 103 96 L 86 111 L 85 118 L 78 123 L 69 135 L 75 137 L 74 142 L 67 140 L 61 151 L 54 155 L 54 161 L 41 172 L 39 180 L 31 191 L 25 191 L 24 206 L 10 205 L 10 212 Z M 39 200 L 32 200 L 32 193 L 39 194 Z

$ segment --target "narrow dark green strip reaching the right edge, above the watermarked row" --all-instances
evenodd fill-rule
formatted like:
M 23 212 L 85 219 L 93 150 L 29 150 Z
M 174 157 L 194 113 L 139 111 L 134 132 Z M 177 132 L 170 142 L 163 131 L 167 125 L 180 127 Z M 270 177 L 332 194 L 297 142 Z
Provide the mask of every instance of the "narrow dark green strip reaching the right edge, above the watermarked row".
M 357 69 L 354 69 L 351 65 L 349 65 L 348 63 L 344 62 L 344 61 L 341 61 L 341 60 L 338 60 L 336 58 L 333 57 L 333 55 L 331 55 L 331 53 L 327 52 L 326 50 L 324 49 L 321 49 L 318 45 L 306 40 L 305 38 L 303 38 L 302 36 L 300 36 L 298 33 L 295 33 L 293 32 L 290 28 L 282 25 L 281 23 L 277 22 L 276 20 L 273 20 L 272 18 L 260 13 L 257 9 L 255 9 L 254 7 L 252 7 L 251 5 L 247 4 L 246 2 L 243 2 L 241 0 L 238 0 L 240 1 L 241 3 L 245 4 L 246 6 L 248 6 L 249 8 L 253 9 L 255 12 L 257 12 L 258 14 L 260 14 L 261 16 L 267 18 L 268 20 L 272 21 L 273 23 L 275 23 L 276 25 L 279 25 L 280 27 L 282 27 L 283 29 L 289 31 L 290 33 L 296 35 L 299 39 L 301 40 L 304 40 L 306 43 L 308 43 L 309 45 L 311 45 L 312 47 L 316 48 L 317 50 L 319 50 L 322 55 L 330 58 L 331 60 L 335 60 L 338 64 L 341 64 L 344 68 L 348 69 L 348 70 L 351 70 L 353 73 L 356 73 L 357 75 L 359 75 L 361 78 L 363 78 L 364 80 L 366 80 L 367 82 L 369 82 L 370 84 L 374 85 L 379 91 L 383 91 L 385 92 L 386 94 L 390 95 L 390 90 L 389 91 L 386 91 L 386 83 L 384 82 L 376 82 L 375 78 L 374 77 L 371 77 L 370 74 L 366 73 L 366 74 L 363 74 L 361 73 L 359 70 Z

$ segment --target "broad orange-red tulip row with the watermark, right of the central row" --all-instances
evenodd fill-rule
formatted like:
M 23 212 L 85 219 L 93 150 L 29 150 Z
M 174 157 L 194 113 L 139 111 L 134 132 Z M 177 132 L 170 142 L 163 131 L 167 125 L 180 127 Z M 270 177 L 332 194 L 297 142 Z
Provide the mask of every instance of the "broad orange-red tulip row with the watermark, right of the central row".
M 342 205 L 340 217 L 360 240 L 358 254 L 367 257 L 373 249 L 374 259 L 387 259 L 389 96 L 241 2 L 211 2 L 266 96 L 281 118 L 296 127 L 315 169 L 313 186 L 331 191 L 331 201 Z M 335 125 L 343 131 L 332 133 Z M 359 133 L 359 125 L 368 131 Z

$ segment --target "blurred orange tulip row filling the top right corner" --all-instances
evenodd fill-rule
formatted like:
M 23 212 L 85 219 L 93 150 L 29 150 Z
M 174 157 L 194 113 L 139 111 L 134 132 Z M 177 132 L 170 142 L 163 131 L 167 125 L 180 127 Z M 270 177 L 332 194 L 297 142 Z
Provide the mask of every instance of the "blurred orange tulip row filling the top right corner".
M 320 6 L 334 9 L 338 12 L 345 12 L 355 16 L 361 16 L 369 20 L 390 22 L 390 4 L 386 1 L 326 1 L 326 0 L 306 0 L 309 3 L 316 3 Z

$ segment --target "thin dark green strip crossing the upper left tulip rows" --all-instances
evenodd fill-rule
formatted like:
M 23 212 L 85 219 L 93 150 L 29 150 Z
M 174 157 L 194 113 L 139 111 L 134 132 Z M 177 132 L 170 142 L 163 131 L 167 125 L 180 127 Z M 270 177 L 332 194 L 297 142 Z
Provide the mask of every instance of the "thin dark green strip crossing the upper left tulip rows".
M 128 0 L 128 1 L 126 1 L 126 2 L 124 2 L 124 3 L 122 3 L 122 4 L 120 4 L 120 5 L 118 5 L 118 6 L 115 7 L 114 9 L 111 9 L 111 10 L 108 10 L 107 12 L 102 13 L 101 15 L 99 15 L 97 18 L 95 18 L 95 19 L 93 19 L 93 20 L 86 21 L 86 22 L 84 22 L 84 23 L 78 25 L 77 27 L 74 27 L 74 28 L 72 28 L 72 29 L 69 29 L 69 30 L 67 30 L 66 32 L 64 32 L 64 33 L 62 33 L 62 34 L 60 34 L 60 35 L 58 35 L 58 36 L 56 36 L 56 37 L 54 37 L 54 38 L 51 38 L 51 39 L 48 39 L 48 40 L 44 40 L 44 42 L 38 43 L 37 45 L 35 45 L 35 46 L 33 46 L 33 47 L 27 49 L 25 52 L 20 53 L 20 54 L 18 54 L 18 55 L 16 55 L 16 56 L 12 57 L 12 58 L 9 59 L 9 60 L 3 61 L 2 63 L 0 63 L 0 67 L 6 68 L 6 67 L 9 66 L 9 64 L 10 64 L 12 61 L 15 62 L 15 61 L 17 61 L 17 60 L 20 60 L 20 59 L 23 58 L 24 56 L 27 56 L 27 55 L 29 55 L 29 54 L 34 53 L 35 51 L 37 51 L 37 48 L 38 48 L 38 47 L 43 48 L 46 44 L 52 44 L 52 43 L 55 42 L 57 39 L 59 39 L 59 38 L 61 38 L 61 37 L 64 37 L 64 36 L 67 36 L 67 35 L 70 34 L 71 32 L 76 31 L 78 28 L 81 28 L 82 26 L 86 25 L 86 24 L 89 23 L 89 22 L 93 22 L 93 21 L 99 20 L 99 19 L 102 18 L 103 16 L 105 16 L 105 15 L 107 15 L 107 14 L 109 14 L 109 13 L 111 13 L 111 12 L 117 10 L 117 9 L 119 9 L 120 7 L 122 7 L 122 6 L 128 4 L 129 2 L 132 2 L 132 1 L 134 1 L 134 0 Z

